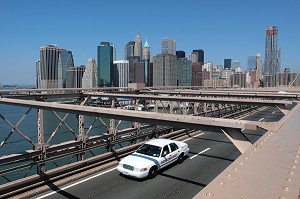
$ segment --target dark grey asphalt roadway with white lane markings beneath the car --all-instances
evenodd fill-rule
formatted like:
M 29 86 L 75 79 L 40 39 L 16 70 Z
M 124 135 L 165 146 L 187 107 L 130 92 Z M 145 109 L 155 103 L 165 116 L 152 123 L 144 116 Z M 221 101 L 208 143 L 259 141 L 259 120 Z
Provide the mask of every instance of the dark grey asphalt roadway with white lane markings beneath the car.
M 275 122 L 283 114 L 274 107 L 266 108 L 244 119 L 252 121 Z M 243 130 L 254 143 L 264 130 Z M 223 133 L 204 131 L 186 142 L 190 152 L 182 164 L 171 165 L 151 180 L 136 180 L 121 176 L 115 168 L 101 171 L 97 177 L 60 187 L 57 192 L 48 192 L 45 198 L 192 198 L 209 182 L 230 165 L 240 152 Z M 204 152 L 203 152 L 204 151 Z M 198 153 L 200 155 L 197 155 Z M 53 190 L 56 187 L 49 185 Z M 46 195 L 48 194 L 48 195 Z

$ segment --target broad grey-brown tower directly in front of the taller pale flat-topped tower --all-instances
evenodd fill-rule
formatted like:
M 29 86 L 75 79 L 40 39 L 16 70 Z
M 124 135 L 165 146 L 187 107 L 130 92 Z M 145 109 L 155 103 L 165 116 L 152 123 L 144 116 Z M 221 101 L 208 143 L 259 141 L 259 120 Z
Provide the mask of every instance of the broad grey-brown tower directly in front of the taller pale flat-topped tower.
M 176 55 L 159 54 L 153 57 L 153 86 L 176 86 Z

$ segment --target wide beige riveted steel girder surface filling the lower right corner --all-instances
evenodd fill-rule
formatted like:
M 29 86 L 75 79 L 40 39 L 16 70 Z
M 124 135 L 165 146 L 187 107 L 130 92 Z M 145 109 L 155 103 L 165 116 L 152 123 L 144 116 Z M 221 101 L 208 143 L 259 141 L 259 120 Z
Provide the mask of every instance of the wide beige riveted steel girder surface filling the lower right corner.
M 299 198 L 300 104 L 194 198 Z

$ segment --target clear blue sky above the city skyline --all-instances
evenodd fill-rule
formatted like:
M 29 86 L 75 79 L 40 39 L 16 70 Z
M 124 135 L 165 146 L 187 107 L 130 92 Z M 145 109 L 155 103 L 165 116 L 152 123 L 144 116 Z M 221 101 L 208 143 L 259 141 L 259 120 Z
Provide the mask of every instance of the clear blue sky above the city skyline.
M 139 31 L 151 55 L 161 39 L 176 40 L 186 56 L 203 49 L 205 62 L 223 65 L 264 59 L 266 26 L 278 26 L 281 71 L 300 70 L 300 0 L 0 0 L 0 84 L 34 84 L 40 47 L 72 51 L 75 66 L 97 60 L 97 46 L 113 43 L 117 59 Z

